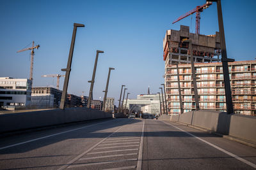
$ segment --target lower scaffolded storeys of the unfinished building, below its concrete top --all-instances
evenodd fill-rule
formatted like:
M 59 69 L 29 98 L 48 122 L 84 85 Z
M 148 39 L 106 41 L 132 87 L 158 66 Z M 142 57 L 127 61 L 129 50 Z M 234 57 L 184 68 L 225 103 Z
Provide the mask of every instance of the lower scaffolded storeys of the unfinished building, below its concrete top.
M 234 112 L 256 116 L 256 60 L 228 62 Z M 196 63 L 200 109 L 226 110 L 221 62 Z M 169 113 L 180 113 L 177 67 L 166 64 L 166 95 Z M 195 110 L 191 64 L 179 64 L 184 112 Z

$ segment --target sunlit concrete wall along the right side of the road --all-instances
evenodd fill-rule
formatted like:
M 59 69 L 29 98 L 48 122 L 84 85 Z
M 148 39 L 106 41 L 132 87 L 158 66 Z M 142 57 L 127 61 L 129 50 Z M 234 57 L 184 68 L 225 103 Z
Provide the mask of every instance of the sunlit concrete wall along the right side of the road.
M 162 115 L 159 119 L 182 122 L 256 143 L 256 117 L 228 115 L 226 112 L 200 110 L 190 111 L 182 115 Z

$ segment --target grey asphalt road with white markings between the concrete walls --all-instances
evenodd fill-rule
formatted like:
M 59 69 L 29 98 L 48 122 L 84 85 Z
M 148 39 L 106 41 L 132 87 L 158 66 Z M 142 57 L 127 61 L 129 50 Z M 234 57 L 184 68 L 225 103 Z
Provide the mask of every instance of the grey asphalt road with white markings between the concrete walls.
M 256 169 L 256 148 L 173 122 L 120 118 L 0 138 L 0 169 Z

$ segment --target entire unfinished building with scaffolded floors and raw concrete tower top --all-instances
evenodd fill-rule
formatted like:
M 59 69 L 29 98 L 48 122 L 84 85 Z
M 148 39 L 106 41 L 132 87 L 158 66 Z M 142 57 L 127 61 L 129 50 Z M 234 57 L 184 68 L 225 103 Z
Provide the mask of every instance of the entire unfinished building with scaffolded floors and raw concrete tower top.
M 164 36 L 165 87 L 168 112 L 180 113 L 177 64 L 179 67 L 182 108 L 184 112 L 195 110 L 191 59 L 188 43 L 191 39 L 195 62 L 200 109 L 226 110 L 225 87 L 222 64 L 219 59 L 220 34 L 201 35 L 189 32 L 189 27 L 180 25 L 180 31 L 168 30 Z M 235 113 L 256 115 L 256 60 L 228 63 L 232 101 Z

